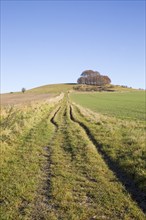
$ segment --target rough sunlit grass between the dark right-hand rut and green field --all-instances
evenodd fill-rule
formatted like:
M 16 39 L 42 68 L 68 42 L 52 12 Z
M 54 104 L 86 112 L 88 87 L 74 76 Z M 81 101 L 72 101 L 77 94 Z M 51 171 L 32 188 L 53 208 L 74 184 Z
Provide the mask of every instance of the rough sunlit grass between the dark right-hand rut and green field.
M 76 117 L 90 129 L 105 154 L 146 192 L 145 124 L 75 109 Z

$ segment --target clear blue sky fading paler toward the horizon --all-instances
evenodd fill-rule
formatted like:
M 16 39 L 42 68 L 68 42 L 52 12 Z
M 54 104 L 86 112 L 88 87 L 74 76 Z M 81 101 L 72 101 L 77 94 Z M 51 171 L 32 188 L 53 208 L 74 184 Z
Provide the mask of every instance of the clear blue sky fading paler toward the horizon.
M 87 69 L 145 87 L 145 1 L 1 1 L 1 92 Z

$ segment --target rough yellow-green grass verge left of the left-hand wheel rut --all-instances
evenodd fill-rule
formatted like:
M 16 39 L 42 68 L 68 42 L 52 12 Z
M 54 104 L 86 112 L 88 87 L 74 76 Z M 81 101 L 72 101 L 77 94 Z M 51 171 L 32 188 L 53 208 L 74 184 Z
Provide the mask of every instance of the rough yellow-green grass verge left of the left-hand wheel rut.
M 2 111 L 1 219 L 23 219 L 32 211 L 46 163 L 44 148 L 54 131 L 51 111 L 43 103 Z

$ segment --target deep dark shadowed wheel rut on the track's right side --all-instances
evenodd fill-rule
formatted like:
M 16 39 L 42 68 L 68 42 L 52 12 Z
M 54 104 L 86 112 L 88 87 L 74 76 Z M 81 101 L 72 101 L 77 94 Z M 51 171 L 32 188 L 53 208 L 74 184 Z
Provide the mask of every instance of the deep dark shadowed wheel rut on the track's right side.
M 138 186 L 130 179 L 125 172 L 121 170 L 121 168 L 117 165 L 116 162 L 111 160 L 111 158 L 102 150 L 102 145 L 99 144 L 91 133 L 90 129 L 81 121 L 78 121 L 73 116 L 72 106 L 70 106 L 70 119 L 77 123 L 80 127 L 82 127 L 90 139 L 90 141 L 94 144 L 105 163 L 109 167 L 109 169 L 115 174 L 117 179 L 124 185 L 126 191 L 131 195 L 132 199 L 136 201 L 138 206 L 142 209 L 144 213 L 146 213 L 146 195 L 142 192 Z

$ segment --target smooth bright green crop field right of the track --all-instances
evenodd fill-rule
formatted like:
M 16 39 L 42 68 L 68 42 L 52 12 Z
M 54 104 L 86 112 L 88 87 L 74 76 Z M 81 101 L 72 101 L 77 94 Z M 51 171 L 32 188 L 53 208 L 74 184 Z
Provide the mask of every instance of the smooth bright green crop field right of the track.
M 95 112 L 124 119 L 146 119 L 144 91 L 72 93 L 71 99 Z

